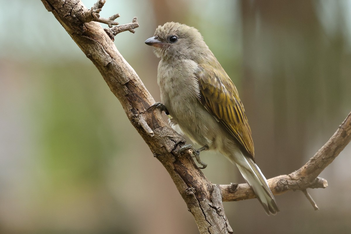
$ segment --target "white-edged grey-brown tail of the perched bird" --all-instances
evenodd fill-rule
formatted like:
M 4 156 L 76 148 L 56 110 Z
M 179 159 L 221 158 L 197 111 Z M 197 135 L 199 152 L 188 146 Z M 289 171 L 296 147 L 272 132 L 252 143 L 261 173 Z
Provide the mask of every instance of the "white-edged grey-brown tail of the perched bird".
M 241 165 L 236 163 L 241 175 L 243 175 L 246 182 L 256 194 L 257 199 L 263 206 L 267 215 L 277 214 L 279 212 L 279 208 L 277 206 L 276 199 L 274 199 L 267 180 L 262 174 L 260 168 L 251 158 L 244 156 L 242 159 L 244 160 L 240 160 Z

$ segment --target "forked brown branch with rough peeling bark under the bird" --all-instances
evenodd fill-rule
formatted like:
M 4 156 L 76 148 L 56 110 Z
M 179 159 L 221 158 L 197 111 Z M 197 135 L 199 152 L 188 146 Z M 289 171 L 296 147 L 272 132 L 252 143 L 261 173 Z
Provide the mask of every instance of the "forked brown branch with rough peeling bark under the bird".
M 254 198 L 254 194 L 246 184 L 213 185 L 189 155 L 177 156 L 178 149 L 184 145 L 185 139 L 165 123 L 160 111 L 157 109 L 152 112 L 145 111 L 154 103 L 154 99 L 111 39 L 116 32 L 126 30 L 133 32 L 138 25 L 137 19 L 133 19 L 130 26 L 117 26 L 105 32 L 97 22 L 94 22 L 99 21 L 98 13 L 105 0 L 99 0 L 89 10 L 79 0 L 41 1 L 98 68 L 112 93 L 121 102 L 132 125 L 143 137 L 153 155 L 167 169 L 188 210 L 193 214 L 200 233 L 233 233 L 224 213 L 222 196 L 224 201 L 236 201 Z M 116 16 L 107 19 L 109 26 L 112 27 L 114 23 L 111 21 Z M 349 115 L 343 127 L 338 129 L 326 146 L 320 149 L 304 167 L 289 175 L 270 179 L 273 193 L 282 194 L 291 189 L 326 187 L 326 181 L 317 176 L 350 141 L 350 119 Z

